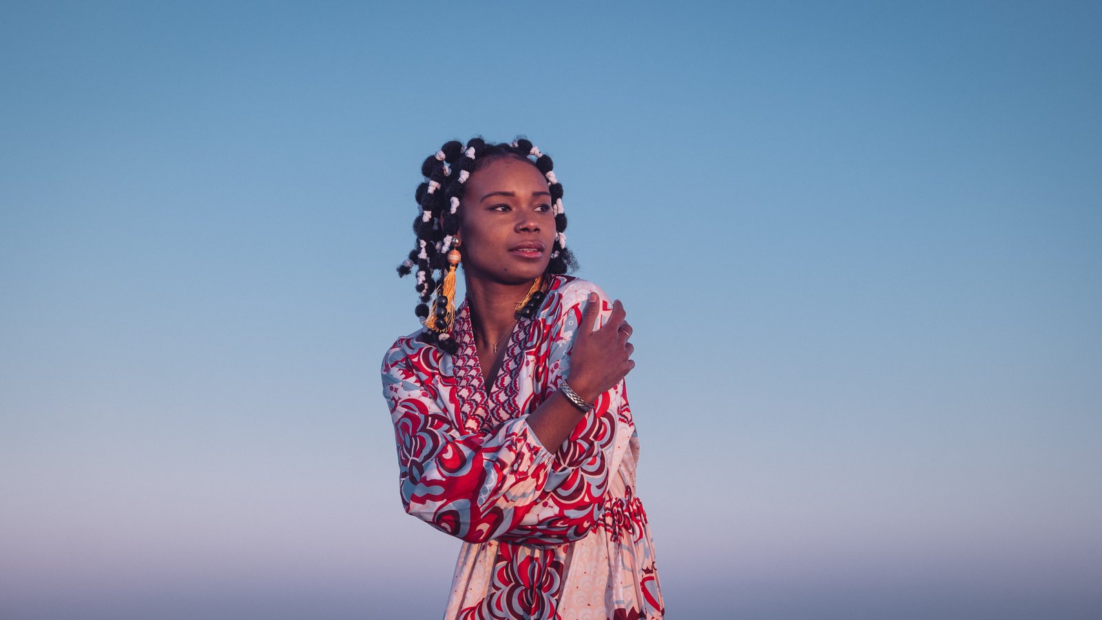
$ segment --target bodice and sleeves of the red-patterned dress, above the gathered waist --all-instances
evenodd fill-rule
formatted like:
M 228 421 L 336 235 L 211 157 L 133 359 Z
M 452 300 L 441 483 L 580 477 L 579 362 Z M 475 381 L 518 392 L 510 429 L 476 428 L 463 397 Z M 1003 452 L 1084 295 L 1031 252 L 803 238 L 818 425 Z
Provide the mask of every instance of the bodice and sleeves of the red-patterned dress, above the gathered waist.
M 623 383 L 597 398 L 561 446 L 542 446 L 528 426 L 528 415 L 570 372 L 591 290 L 601 297 L 602 322 L 607 319 L 611 303 L 594 285 L 572 280 L 552 290 L 532 323 L 510 339 L 489 395 L 464 310 L 456 318 L 456 355 L 412 336 L 391 346 L 382 363 L 383 396 L 409 514 L 474 543 L 551 547 L 593 528 L 616 455 L 633 430 Z

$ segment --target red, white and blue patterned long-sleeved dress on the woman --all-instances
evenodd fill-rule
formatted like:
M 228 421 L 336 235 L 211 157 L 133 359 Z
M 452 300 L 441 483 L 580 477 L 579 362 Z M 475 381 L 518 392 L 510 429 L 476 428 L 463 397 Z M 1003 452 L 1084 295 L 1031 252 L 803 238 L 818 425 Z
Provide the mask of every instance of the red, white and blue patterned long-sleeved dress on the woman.
M 489 391 L 469 310 L 456 311 L 454 356 L 397 342 L 382 392 L 398 440 L 406 512 L 462 538 L 445 619 L 655 619 L 663 614 L 653 543 L 635 494 L 639 443 L 624 383 L 554 452 L 528 414 L 557 389 L 591 282 L 555 276 L 521 319 Z

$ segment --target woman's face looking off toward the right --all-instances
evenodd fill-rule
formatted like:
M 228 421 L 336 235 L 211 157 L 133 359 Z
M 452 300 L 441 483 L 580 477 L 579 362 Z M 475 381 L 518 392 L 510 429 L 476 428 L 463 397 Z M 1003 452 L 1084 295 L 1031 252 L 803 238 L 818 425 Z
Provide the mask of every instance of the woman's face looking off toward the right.
M 468 278 L 527 284 L 551 260 L 554 214 L 543 174 L 500 158 L 471 174 L 460 210 L 460 250 Z

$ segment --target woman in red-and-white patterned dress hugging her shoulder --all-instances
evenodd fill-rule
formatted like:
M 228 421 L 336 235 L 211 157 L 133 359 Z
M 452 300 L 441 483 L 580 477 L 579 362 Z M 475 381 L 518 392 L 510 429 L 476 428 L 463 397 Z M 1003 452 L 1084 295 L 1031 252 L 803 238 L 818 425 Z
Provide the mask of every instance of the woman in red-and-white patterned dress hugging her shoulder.
M 383 395 L 406 511 L 465 542 L 446 619 L 663 613 L 635 496 L 631 327 L 564 275 L 552 167 L 523 139 L 444 145 L 422 165 L 418 244 L 398 268 L 417 268 L 424 328 L 387 351 Z

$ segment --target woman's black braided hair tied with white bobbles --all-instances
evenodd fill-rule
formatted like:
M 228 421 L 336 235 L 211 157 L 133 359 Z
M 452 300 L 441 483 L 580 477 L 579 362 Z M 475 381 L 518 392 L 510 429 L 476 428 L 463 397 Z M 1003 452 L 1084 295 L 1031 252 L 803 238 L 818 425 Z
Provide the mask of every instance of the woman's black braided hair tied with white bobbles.
M 577 267 L 573 254 L 566 248 L 564 234 L 566 214 L 562 209 L 562 184 L 555 179 L 554 163 L 549 156 L 541 153 L 525 138 L 498 145 L 487 143 L 482 138 L 471 139 L 465 147 L 457 140 L 444 143 L 421 164 L 421 174 L 425 180 L 418 185 L 414 194 L 421 207 L 413 220 L 417 245 L 410 250 L 409 257 L 398 266 L 398 275 L 408 276 L 414 268 L 417 269 L 414 288 L 420 303 L 414 312 L 426 328 L 421 339 L 449 354 L 454 354 L 458 348 L 452 338 L 452 308 L 455 300 L 451 299 L 451 296 L 454 296 L 454 280 L 447 282 L 446 276 L 452 269 L 454 277 L 454 263 L 449 264 L 451 261 L 449 253 L 455 247 L 455 235 L 460 232 L 458 209 L 466 191 L 465 183 L 471 174 L 480 168 L 505 158 L 531 163 L 548 181 L 551 210 L 554 213 L 555 238 L 551 247 L 551 260 L 544 275 L 565 274 L 568 269 Z M 436 271 L 440 271 L 439 281 L 433 277 Z M 435 300 L 432 299 L 433 295 L 436 296 Z M 542 295 L 539 299 L 542 299 Z M 534 308 L 526 310 L 525 313 L 531 316 Z

